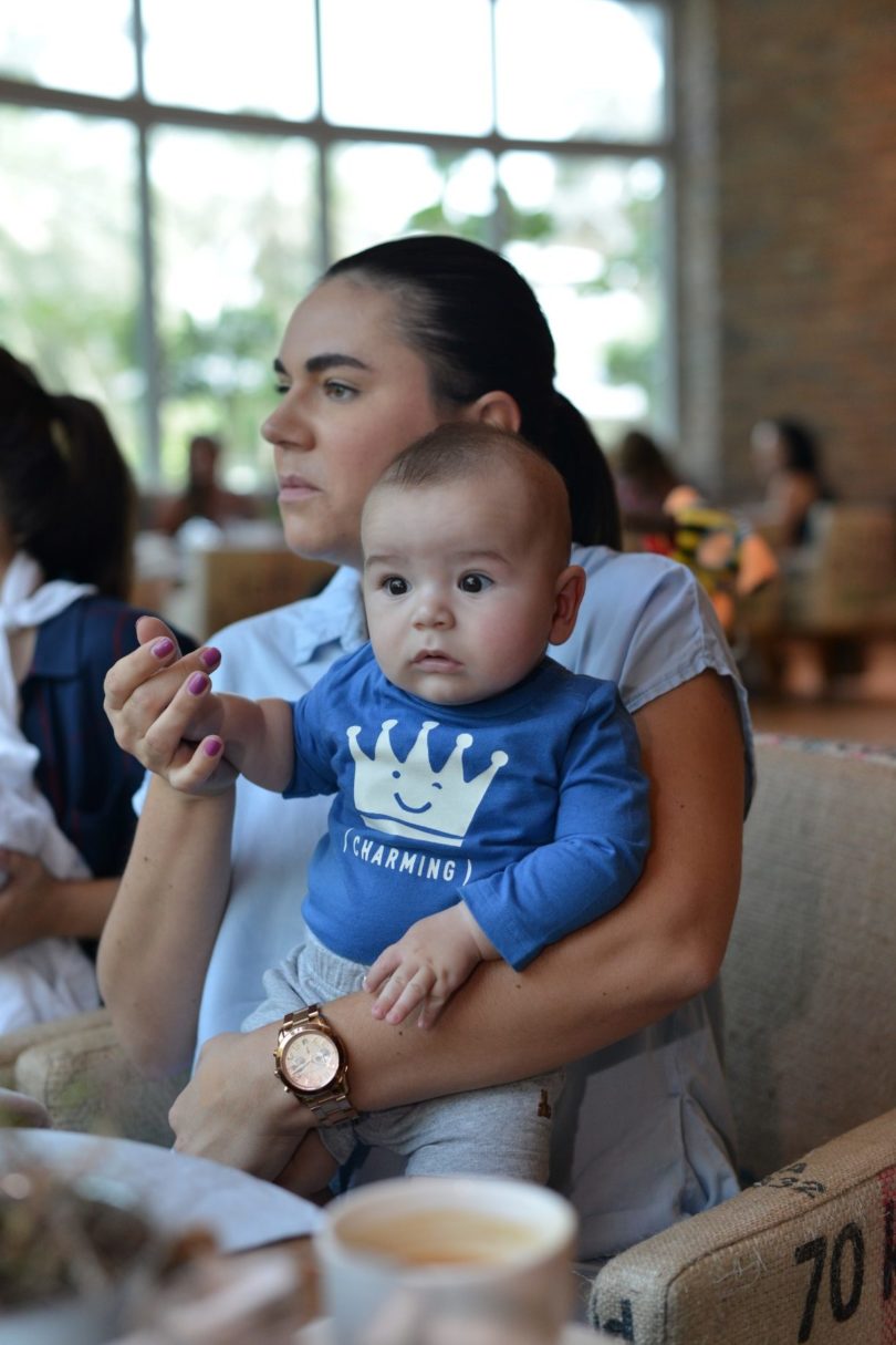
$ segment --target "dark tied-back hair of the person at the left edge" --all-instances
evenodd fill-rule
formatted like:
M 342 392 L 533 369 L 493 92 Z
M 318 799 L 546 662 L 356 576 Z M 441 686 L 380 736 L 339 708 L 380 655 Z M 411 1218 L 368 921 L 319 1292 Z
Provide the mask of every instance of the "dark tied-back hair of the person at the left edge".
M 47 580 L 130 589 L 137 491 L 99 408 L 0 347 L 0 515 Z

